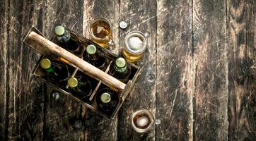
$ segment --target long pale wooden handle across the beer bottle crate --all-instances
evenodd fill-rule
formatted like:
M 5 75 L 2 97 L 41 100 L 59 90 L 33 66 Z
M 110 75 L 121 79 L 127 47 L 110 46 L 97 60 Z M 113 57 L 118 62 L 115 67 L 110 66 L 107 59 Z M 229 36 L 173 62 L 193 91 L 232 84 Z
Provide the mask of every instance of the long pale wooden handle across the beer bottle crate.
M 88 75 L 91 75 L 94 78 L 98 78 L 99 80 L 102 80 L 103 83 L 110 87 L 115 87 L 118 90 L 124 90 L 124 87 L 126 86 L 123 82 L 120 80 L 117 80 L 116 78 L 112 77 L 111 75 L 104 73 L 100 69 L 96 68 L 95 66 L 91 65 L 90 63 L 84 61 L 83 59 L 79 58 L 78 56 L 75 56 L 74 54 L 71 54 L 69 51 L 66 51 L 65 49 L 62 49 L 62 47 L 59 47 L 57 44 L 54 44 L 50 40 L 46 39 L 45 37 L 42 37 L 41 35 L 38 35 L 36 32 L 30 32 L 27 36 L 28 39 L 31 40 L 31 42 L 37 43 L 40 47 L 45 48 L 47 51 L 52 52 L 52 54 L 56 54 L 57 56 L 61 56 L 62 58 L 66 59 L 70 63 L 73 63 L 75 66 L 81 69 L 83 73 L 86 73 Z

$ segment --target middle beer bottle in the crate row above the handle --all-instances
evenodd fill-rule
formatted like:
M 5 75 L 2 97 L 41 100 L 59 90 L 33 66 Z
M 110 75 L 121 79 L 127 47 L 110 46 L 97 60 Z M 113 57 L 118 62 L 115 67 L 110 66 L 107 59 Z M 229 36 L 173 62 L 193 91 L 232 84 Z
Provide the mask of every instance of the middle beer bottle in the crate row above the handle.
M 107 68 L 105 57 L 100 54 L 100 51 L 93 44 L 86 47 L 86 53 L 83 54 L 83 59 L 93 66 L 100 68 L 102 71 L 105 71 Z

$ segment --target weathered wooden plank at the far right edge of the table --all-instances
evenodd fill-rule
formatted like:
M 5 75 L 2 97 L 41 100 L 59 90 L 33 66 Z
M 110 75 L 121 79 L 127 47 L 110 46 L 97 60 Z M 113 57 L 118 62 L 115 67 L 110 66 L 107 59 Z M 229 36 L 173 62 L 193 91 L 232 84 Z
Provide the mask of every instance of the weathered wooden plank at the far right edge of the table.
M 256 2 L 228 0 L 228 140 L 256 140 Z

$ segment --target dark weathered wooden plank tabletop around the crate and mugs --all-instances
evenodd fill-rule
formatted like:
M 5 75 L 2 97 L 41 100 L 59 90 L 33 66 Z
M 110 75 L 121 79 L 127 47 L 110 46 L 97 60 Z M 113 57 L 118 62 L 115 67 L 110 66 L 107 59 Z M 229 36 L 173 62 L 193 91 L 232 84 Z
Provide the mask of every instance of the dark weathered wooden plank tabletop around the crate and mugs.
M 255 0 L 1 0 L 0 140 L 256 140 L 255 10 Z M 95 16 L 111 20 L 116 54 L 128 32 L 150 32 L 112 122 L 64 95 L 54 101 L 31 74 L 40 54 L 22 44 L 31 25 L 48 38 L 58 24 L 88 37 Z M 134 132 L 139 108 L 161 124 Z

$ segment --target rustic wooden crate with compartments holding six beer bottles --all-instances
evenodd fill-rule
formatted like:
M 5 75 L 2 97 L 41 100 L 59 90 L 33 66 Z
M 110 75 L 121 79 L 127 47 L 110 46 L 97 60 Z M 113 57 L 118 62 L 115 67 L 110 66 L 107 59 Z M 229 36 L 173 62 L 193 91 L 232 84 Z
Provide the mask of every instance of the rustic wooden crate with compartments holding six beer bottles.
M 69 30 L 69 29 L 67 29 L 67 30 Z M 115 118 L 115 115 L 117 115 L 117 111 L 122 106 L 122 103 L 124 102 L 125 98 L 127 97 L 130 90 L 132 89 L 132 86 L 134 86 L 134 82 L 138 78 L 138 75 L 141 71 L 141 68 L 139 68 L 139 66 L 134 65 L 133 63 L 128 62 L 129 65 L 131 66 L 131 71 L 132 72 L 131 72 L 131 75 L 129 77 L 129 81 L 125 84 L 124 89 L 122 89 L 120 87 L 115 87 L 115 86 L 113 87 L 113 85 L 109 84 L 109 82 L 105 82 L 104 79 L 101 80 L 97 75 L 92 75 L 91 72 L 84 71 L 83 69 L 77 67 L 74 63 L 70 63 L 71 61 L 69 61 L 69 59 L 65 58 L 67 60 L 66 64 L 69 68 L 69 73 L 71 73 L 71 76 L 76 76 L 77 74 L 83 75 L 87 78 L 90 78 L 90 80 L 93 82 L 93 85 L 92 85 L 93 92 L 92 92 L 91 96 L 88 97 L 88 100 L 83 100 L 82 101 L 78 97 L 75 97 L 73 94 L 71 94 L 71 92 L 69 92 L 69 88 L 68 88 L 69 86 L 66 85 L 67 84 L 66 82 L 53 84 L 51 82 L 48 82 L 44 78 L 45 71 L 42 68 L 40 68 L 40 61 L 45 57 L 47 59 L 50 59 L 50 60 L 55 60 L 55 59 L 58 59 L 59 57 L 63 57 L 63 56 L 59 56 L 58 54 L 54 54 L 55 52 L 51 52 L 48 49 L 45 49 L 45 47 L 42 47 L 42 44 L 39 44 L 37 42 L 37 40 L 30 39 L 29 35 L 30 35 L 31 32 L 37 33 L 42 38 L 45 38 L 45 37 L 35 27 L 31 27 L 30 30 L 28 30 L 28 32 L 25 34 L 25 37 L 23 38 L 23 42 L 25 44 L 27 44 L 29 47 L 32 47 L 36 51 L 40 52 L 40 54 L 42 54 L 39 61 L 37 62 L 37 65 L 35 66 L 35 69 L 33 70 L 33 75 L 35 75 L 36 78 L 42 80 L 43 82 L 47 83 L 48 85 L 51 85 L 52 87 L 54 87 L 59 92 L 62 92 L 63 94 L 68 95 L 72 99 L 75 99 L 77 102 L 80 102 L 81 104 L 87 106 L 88 108 L 90 108 L 93 111 L 97 112 L 98 114 L 104 116 L 105 118 L 108 118 L 108 119 Z M 81 50 L 81 53 L 74 54 L 74 55 L 78 56 L 79 59 L 82 59 L 83 53 L 85 52 L 85 47 L 87 47 L 88 44 L 94 44 L 95 47 L 97 47 L 97 49 L 100 50 L 100 52 L 103 53 L 105 55 L 105 58 L 107 59 L 107 69 L 104 73 L 108 73 L 109 68 L 110 68 L 110 64 L 115 59 L 117 59 L 119 56 L 112 53 L 112 51 L 110 51 L 108 49 L 104 49 L 103 47 L 100 47 L 98 44 L 95 44 L 94 42 L 87 39 L 86 37 L 83 37 L 81 35 L 76 34 L 76 32 L 74 32 L 72 30 L 69 30 L 69 32 L 71 32 L 71 36 L 78 37 L 81 44 L 83 44 L 83 49 Z M 56 39 L 55 36 L 53 37 L 52 42 L 57 44 L 57 39 Z M 83 63 L 83 65 L 86 65 L 86 63 Z M 98 106 L 97 106 L 96 102 L 95 102 L 95 96 L 96 96 L 95 94 L 97 94 L 98 90 L 100 90 L 100 88 L 102 88 L 102 87 L 110 87 L 112 90 L 115 90 L 118 93 L 119 104 L 117 105 L 115 111 L 112 112 L 112 114 L 105 114 L 103 111 L 100 111 L 98 109 Z

